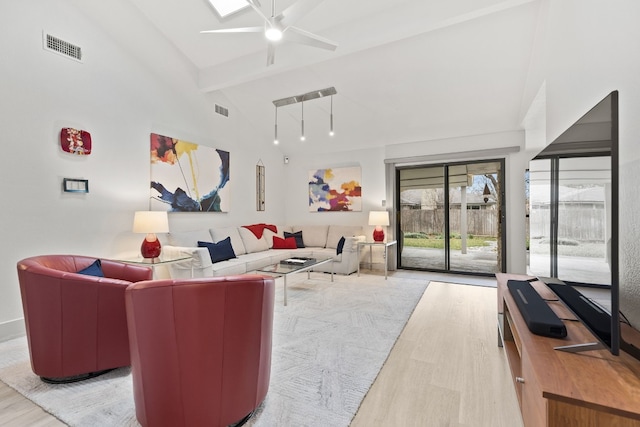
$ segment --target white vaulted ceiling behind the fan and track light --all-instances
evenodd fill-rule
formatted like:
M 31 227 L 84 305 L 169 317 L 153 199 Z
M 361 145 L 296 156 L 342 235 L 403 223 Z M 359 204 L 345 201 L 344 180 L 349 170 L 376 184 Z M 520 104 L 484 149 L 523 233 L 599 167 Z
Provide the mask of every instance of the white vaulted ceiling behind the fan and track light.
M 294 1 L 277 0 L 276 13 Z M 260 2 L 270 16 L 271 0 Z M 164 36 L 212 103 L 246 117 L 265 143 L 273 100 L 334 86 L 333 138 L 328 98 L 305 103 L 304 143 L 300 104 L 278 110 L 289 154 L 520 129 L 539 19 L 539 0 L 324 0 L 296 26 L 337 50 L 282 43 L 267 67 L 262 34 L 200 34 L 262 25 L 250 8 L 221 20 L 207 0 L 121 0 L 124 21 L 114 3 L 98 3 L 76 1 L 130 43 Z

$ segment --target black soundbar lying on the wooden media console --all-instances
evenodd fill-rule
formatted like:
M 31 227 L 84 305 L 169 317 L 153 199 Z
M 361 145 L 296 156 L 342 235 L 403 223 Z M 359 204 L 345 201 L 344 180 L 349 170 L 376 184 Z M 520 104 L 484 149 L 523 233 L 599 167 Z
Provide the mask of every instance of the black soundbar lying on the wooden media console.
M 567 328 L 562 320 L 551 310 L 531 283 L 524 280 L 509 280 L 507 288 L 532 333 L 552 338 L 567 336 Z

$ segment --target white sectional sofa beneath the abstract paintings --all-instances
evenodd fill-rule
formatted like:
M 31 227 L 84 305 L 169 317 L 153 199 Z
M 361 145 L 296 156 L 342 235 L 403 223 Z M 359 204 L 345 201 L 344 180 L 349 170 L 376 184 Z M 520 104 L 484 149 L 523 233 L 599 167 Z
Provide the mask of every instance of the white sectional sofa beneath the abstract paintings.
M 332 257 L 333 263 L 316 267 L 315 271 L 351 274 L 358 270 L 358 242 L 365 241 L 362 227 L 340 225 L 276 226 L 277 233 L 265 229 L 257 238 L 253 231 L 243 226 L 229 226 L 187 232 L 171 232 L 168 244 L 162 246 L 167 258 L 191 256 L 186 262 L 170 265 L 173 278 L 226 276 L 251 273 L 259 268 L 278 263 L 293 256 L 322 258 Z M 284 232 L 302 232 L 304 248 L 274 249 L 273 236 L 284 238 Z M 220 242 L 227 237 L 236 255 L 226 261 L 213 263 L 206 247 L 198 242 Z M 344 237 L 342 253 L 337 253 L 338 244 Z M 332 265 L 333 264 L 333 265 Z

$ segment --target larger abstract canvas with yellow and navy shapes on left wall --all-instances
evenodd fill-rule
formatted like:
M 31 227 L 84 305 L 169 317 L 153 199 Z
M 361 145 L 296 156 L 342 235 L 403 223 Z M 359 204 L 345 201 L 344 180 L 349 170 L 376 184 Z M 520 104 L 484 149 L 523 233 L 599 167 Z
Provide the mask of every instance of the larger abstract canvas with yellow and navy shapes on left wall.
M 151 134 L 152 210 L 229 212 L 229 152 Z

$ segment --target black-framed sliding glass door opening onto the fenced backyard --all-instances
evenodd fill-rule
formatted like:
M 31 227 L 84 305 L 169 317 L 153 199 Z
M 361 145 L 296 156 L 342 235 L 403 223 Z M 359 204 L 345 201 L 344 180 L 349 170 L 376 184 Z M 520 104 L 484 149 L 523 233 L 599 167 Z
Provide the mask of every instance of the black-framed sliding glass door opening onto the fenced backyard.
M 503 161 L 398 168 L 399 268 L 495 274 Z

